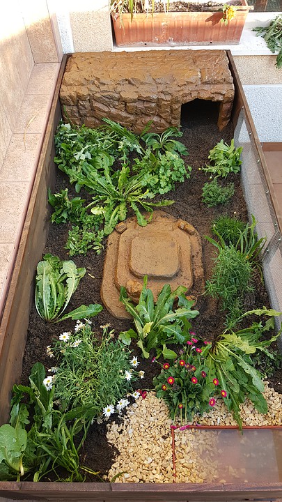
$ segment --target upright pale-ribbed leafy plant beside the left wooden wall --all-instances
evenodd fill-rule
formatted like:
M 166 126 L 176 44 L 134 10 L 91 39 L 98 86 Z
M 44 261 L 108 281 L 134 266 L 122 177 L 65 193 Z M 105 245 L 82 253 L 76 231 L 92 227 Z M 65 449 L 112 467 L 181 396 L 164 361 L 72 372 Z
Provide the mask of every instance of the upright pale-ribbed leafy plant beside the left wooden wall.
M 36 275 L 36 310 L 42 319 L 51 322 L 63 319 L 93 317 L 102 310 L 99 304 L 81 305 L 64 314 L 72 294 L 86 273 L 86 268 L 77 268 L 71 260 L 61 261 L 52 254 L 45 254 L 38 263 Z

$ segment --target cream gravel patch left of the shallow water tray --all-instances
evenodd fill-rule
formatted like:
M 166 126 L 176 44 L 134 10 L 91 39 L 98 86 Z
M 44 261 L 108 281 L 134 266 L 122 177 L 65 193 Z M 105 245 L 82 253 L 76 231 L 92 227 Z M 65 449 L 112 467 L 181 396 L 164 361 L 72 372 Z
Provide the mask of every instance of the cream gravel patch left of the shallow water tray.
M 107 439 L 120 455 L 109 471 L 116 482 L 173 482 L 171 419 L 166 404 L 148 393 L 132 404 L 121 425 L 107 427 Z

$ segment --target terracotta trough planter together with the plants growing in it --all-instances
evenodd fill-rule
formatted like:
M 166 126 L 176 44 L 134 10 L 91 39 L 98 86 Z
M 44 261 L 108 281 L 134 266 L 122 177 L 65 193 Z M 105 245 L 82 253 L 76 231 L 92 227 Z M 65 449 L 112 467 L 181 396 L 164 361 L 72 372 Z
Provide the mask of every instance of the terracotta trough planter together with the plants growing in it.
M 239 43 L 246 0 L 217 3 L 111 0 L 116 45 Z

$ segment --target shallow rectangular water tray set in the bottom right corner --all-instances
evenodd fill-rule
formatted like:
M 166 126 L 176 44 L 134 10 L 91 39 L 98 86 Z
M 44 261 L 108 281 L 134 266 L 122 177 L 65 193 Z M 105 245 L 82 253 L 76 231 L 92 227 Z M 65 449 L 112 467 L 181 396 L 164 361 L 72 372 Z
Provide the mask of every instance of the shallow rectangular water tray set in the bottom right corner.
M 281 482 L 282 429 L 175 430 L 177 482 Z

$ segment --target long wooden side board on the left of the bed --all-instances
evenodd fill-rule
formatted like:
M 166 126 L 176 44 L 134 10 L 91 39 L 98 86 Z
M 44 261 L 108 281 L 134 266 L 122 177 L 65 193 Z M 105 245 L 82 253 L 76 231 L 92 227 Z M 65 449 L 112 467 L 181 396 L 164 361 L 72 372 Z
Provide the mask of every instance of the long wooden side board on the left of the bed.
M 22 373 L 29 312 L 34 294 L 36 264 L 42 257 L 49 228 L 47 188 L 55 182 L 54 132 L 61 118 L 58 91 L 63 67 L 58 76 L 54 100 L 42 144 L 29 208 L 19 242 L 10 288 L 0 326 L 0 424 L 8 420 L 10 393 Z M 43 223 L 43 224 L 42 224 Z

